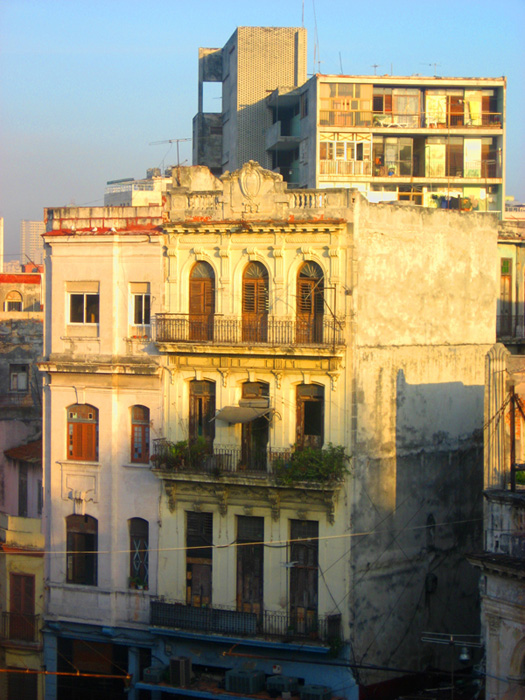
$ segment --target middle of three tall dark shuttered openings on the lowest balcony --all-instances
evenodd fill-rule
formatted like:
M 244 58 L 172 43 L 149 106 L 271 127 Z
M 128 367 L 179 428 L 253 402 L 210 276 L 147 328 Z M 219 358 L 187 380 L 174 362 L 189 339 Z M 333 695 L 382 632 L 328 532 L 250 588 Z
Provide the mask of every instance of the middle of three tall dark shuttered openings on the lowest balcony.
M 264 518 L 237 516 L 237 610 L 262 612 Z

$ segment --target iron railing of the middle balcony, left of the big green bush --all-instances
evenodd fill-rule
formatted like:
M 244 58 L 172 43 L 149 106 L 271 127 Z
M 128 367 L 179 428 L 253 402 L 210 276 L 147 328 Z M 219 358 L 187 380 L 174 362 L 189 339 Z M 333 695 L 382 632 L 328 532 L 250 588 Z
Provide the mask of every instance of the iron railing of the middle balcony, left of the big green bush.
M 274 468 L 289 462 L 293 450 L 267 448 L 265 452 L 247 454 L 238 445 L 213 447 L 212 454 L 196 453 L 191 446 L 180 449 L 181 443 L 164 438 L 153 441 L 151 462 L 157 469 L 194 472 L 197 474 L 273 474 Z

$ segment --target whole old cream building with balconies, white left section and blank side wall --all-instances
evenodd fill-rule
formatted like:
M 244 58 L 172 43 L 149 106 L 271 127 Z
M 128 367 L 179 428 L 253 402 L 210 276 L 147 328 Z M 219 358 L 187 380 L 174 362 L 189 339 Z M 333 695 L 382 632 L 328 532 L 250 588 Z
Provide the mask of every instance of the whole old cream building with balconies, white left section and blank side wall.
M 349 700 L 449 668 L 420 637 L 477 630 L 494 217 L 253 162 L 46 217 L 46 668 Z

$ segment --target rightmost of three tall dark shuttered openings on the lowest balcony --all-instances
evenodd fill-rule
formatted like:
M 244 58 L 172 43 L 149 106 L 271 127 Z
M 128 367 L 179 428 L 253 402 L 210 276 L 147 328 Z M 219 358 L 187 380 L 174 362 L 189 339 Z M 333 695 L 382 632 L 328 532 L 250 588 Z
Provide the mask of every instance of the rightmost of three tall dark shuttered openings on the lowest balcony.
M 317 629 L 319 523 L 290 521 L 290 616 L 298 632 Z

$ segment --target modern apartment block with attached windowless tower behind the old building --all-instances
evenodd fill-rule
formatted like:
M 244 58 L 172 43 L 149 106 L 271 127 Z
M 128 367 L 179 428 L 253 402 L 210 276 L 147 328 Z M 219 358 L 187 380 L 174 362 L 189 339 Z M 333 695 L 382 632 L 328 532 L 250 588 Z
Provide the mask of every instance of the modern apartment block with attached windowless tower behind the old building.
M 220 174 L 251 159 L 294 187 L 352 187 L 371 202 L 504 212 L 505 78 L 306 80 L 306 30 L 300 54 L 289 45 L 297 31 L 239 27 L 223 49 L 200 49 L 195 164 Z M 223 85 L 216 114 L 203 113 L 208 81 Z

